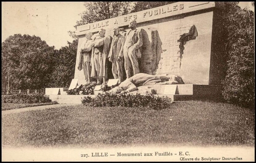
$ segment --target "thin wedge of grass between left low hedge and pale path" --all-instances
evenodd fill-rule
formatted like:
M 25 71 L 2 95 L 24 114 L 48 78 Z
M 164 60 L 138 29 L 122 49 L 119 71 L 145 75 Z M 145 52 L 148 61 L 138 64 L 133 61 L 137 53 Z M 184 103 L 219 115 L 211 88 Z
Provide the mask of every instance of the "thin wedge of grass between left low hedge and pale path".
M 17 108 L 24 108 L 24 107 L 32 107 L 32 106 L 52 105 L 52 104 L 57 104 L 57 102 L 53 101 L 53 102 L 48 102 L 48 103 L 34 103 L 34 104 L 2 103 L 2 111 L 17 109 Z

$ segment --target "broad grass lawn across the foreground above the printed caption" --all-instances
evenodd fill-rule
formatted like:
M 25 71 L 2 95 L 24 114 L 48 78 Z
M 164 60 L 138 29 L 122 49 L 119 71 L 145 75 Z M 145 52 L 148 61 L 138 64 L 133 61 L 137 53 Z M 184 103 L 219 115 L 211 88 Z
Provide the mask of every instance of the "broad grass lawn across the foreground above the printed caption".
M 67 106 L 2 115 L 2 147 L 254 147 L 254 109 L 176 102 L 153 110 Z

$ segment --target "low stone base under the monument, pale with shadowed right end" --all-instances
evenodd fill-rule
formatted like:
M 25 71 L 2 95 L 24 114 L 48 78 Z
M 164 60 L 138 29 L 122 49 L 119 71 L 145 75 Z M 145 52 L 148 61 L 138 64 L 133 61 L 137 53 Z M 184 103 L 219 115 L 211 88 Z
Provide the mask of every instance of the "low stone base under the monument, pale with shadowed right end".
M 200 85 L 200 84 L 176 84 L 177 91 L 176 95 L 164 95 L 163 92 L 166 85 L 144 85 L 138 87 L 139 90 L 133 91 L 130 94 L 139 93 L 141 95 L 150 94 L 146 93 L 145 90 L 154 89 L 157 92 L 156 96 L 167 96 L 172 101 L 216 101 L 222 100 L 221 86 L 219 85 Z M 97 93 L 102 93 L 97 92 Z M 57 101 L 59 104 L 81 104 L 81 100 L 85 96 L 92 98 L 97 95 L 48 95 L 52 101 Z

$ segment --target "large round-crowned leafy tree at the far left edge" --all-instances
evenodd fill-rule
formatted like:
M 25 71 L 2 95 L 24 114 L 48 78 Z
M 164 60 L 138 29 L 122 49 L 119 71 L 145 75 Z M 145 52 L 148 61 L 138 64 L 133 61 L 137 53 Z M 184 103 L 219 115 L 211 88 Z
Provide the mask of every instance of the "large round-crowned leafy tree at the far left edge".
M 55 64 L 54 46 L 40 37 L 15 34 L 2 43 L 2 76 L 10 74 L 13 89 L 39 89 L 49 82 Z M 6 83 L 2 82 L 6 85 Z

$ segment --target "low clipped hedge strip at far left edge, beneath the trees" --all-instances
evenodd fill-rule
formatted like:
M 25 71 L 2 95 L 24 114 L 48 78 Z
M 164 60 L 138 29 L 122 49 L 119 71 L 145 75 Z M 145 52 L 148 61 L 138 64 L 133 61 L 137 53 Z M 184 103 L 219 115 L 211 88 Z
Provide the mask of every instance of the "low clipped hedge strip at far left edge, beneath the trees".
M 49 99 L 49 96 L 40 94 L 2 95 L 2 103 L 32 104 L 47 102 L 52 102 L 52 100 Z

